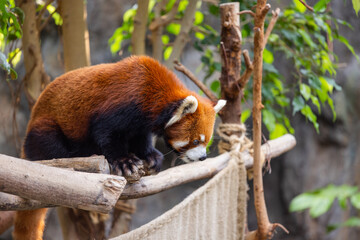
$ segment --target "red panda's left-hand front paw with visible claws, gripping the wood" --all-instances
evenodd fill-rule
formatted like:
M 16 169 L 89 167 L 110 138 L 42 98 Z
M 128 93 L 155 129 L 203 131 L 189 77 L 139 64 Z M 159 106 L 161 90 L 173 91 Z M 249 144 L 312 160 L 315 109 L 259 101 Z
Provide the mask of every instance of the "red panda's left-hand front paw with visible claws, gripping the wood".
M 114 162 L 113 170 L 130 183 L 139 181 L 145 175 L 143 161 L 133 154 Z

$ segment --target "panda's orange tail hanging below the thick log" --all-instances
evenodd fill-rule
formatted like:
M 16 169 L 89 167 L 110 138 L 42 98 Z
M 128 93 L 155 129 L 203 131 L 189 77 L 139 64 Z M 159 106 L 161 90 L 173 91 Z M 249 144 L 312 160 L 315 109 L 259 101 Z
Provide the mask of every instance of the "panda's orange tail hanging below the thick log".
M 14 223 L 14 240 L 42 240 L 47 208 L 17 211 Z

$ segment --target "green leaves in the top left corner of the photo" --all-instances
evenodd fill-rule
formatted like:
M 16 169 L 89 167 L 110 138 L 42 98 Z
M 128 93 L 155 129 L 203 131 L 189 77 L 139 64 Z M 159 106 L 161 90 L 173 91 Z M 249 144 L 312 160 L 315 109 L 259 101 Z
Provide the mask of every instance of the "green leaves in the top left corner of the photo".
M 0 1 L 0 67 L 11 79 L 17 78 L 17 73 L 10 63 L 16 65 L 21 51 L 16 48 L 5 53 L 5 45 L 22 37 L 21 24 L 24 21 L 23 11 L 15 6 L 14 0 Z

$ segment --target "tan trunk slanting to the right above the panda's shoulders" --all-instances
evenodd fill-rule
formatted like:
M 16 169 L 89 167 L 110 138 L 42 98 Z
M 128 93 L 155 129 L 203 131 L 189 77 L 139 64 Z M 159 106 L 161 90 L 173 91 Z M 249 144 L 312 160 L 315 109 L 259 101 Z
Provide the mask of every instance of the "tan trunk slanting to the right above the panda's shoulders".
M 180 33 L 179 33 L 179 35 L 176 36 L 171 55 L 165 62 L 165 65 L 170 69 L 174 68 L 174 65 L 173 65 L 174 61 L 179 60 L 179 58 L 186 46 L 186 43 L 189 38 L 189 32 L 190 32 L 191 27 L 194 22 L 196 5 L 198 4 L 198 2 L 200 2 L 200 0 L 189 1 L 188 5 L 185 9 L 184 16 L 181 19 Z

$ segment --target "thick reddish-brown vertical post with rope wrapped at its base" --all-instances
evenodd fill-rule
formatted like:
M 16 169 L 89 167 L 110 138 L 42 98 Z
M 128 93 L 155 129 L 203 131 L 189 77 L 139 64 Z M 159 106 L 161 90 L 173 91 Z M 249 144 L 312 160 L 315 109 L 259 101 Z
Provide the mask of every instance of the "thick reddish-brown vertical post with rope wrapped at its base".
M 241 71 L 241 31 L 239 3 L 220 4 L 221 13 L 221 98 L 226 105 L 219 116 L 223 123 L 240 123 L 242 91 L 238 85 Z

